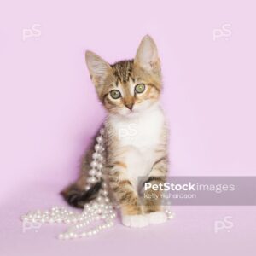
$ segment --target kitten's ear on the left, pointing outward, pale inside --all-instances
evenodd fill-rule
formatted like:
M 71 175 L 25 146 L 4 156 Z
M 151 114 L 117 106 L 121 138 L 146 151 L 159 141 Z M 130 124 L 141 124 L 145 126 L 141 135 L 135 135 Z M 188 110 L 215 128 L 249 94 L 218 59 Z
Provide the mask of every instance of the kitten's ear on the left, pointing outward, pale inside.
M 100 56 L 90 50 L 87 50 L 85 53 L 85 61 L 90 72 L 90 77 L 95 85 L 105 79 L 112 70 L 107 61 L 104 61 Z

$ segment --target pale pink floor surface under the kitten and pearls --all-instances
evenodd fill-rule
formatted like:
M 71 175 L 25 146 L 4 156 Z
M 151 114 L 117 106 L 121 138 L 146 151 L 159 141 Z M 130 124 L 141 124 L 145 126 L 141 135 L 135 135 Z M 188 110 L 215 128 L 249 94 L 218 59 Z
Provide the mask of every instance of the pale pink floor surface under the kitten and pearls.
M 143 229 L 111 230 L 75 241 L 56 236 L 62 224 L 22 229 L 20 215 L 29 210 L 66 206 L 60 184 L 33 183 L 9 195 L 1 207 L 0 255 L 255 255 L 255 207 L 173 207 L 176 217 Z M 227 218 L 224 221 L 224 218 Z M 217 222 L 217 223 L 216 223 Z M 214 226 L 218 226 L 218 230 Z

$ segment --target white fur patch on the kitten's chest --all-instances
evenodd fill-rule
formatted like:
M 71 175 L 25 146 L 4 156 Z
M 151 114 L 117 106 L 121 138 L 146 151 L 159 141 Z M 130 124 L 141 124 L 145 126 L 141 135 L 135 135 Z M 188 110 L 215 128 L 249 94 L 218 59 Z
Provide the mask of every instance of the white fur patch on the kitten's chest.
M 156 160 L 155 149 L 163 139 L 165 117 L 157 107 L 132 118 L 111 118 L 109 124 L 119 138 L 117 149 L 125 148 L 124 160 L 134 180 L 148 175 Z

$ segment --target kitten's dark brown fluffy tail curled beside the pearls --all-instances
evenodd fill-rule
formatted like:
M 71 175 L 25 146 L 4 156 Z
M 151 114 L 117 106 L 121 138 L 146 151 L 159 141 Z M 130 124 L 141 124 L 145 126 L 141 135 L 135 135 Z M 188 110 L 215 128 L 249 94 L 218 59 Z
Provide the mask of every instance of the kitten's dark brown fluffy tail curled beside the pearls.
M 84 208 L 86 203 L 96 198 L 101 188 L 102 182 L 93 184 L 89 190 L 81 189 L 77 183 L 73 183 L 61 191 L 61 195 L 69 205 Z

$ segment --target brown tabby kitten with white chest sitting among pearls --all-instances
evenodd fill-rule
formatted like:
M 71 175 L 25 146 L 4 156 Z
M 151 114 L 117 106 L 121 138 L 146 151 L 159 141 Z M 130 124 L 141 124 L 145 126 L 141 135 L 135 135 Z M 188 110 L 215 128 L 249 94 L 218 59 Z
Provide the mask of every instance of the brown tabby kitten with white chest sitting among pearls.
M 125 226 L 143 227 L 166 221 L 158 200 L 139 201 L 138 177 L 164 183 L 167 173 L 166 119 L 160 108 L 160 58 L 154 40 L 145 36 L 134 60 L 108 64 L 91 51 L 85 55 L 90 78 L 108 116 L 105 148 L 108 185 L 118 201 Z M 97 133 L 98 135 L 98 133 Z M 96 198 L 101 183 L 84 189 L 95 142 L 84 156 L 79 179 L 61 194 L 74 207 Z M 155 192 L 155 191 L 154 191 Z M 145 195 L 152 190 L 145 191 Z M 157 192 L 160 195 L 160 191 Z

